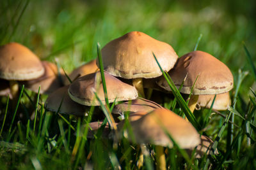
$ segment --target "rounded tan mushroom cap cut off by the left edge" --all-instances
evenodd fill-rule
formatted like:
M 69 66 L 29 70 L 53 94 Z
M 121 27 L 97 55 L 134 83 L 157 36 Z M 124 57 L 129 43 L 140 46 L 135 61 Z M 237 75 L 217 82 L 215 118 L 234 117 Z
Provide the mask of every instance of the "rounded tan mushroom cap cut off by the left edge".
M 0 61 L 0 78 L 5 80 L 31 80 L 44 74 L 40 59 L 19 43 L 0 46 Z

